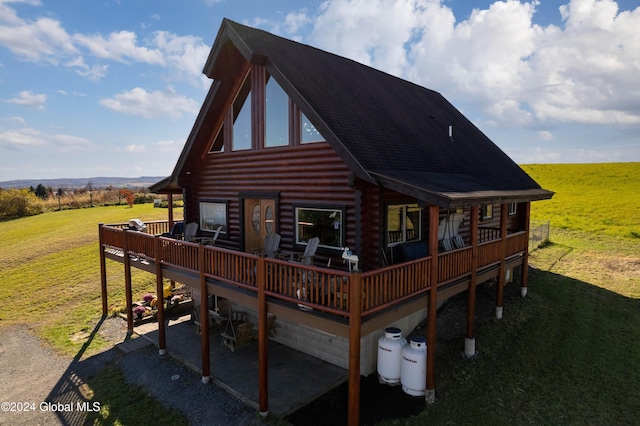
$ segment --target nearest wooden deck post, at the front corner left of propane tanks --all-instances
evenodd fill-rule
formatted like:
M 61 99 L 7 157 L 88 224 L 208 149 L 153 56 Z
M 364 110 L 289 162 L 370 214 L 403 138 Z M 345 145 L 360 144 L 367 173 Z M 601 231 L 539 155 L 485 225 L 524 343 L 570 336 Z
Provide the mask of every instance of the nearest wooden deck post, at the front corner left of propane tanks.
M 349 277 L 349 402 L 348 424 L 360 424 L 360 334 L 362 327 L 362 275 Z

